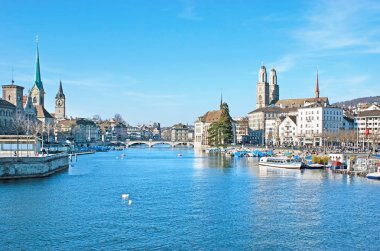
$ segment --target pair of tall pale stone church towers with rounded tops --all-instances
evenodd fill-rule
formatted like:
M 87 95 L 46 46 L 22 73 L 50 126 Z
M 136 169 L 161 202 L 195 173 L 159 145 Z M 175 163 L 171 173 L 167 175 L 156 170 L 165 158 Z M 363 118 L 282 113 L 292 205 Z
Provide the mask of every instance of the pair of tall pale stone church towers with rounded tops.
M 280 99 L 280 88 L 277 84 L 277 73 L 275 69 L 270 70 L 269 83 L 267 70 L 264 65 L 259 71 L 259 81 L 256 87 L 256 109 L 275 104 Z

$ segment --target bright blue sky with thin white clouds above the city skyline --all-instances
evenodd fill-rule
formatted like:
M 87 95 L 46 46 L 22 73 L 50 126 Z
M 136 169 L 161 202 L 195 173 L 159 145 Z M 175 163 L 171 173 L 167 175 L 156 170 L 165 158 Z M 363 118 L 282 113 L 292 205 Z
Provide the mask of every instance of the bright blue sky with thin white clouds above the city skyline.
M 0 0 L 0 83 L 32 87 L 39 36 L 46 107 L 62 80 L 71 116 L 193 123 L 255 109 L 258 71 L 280 98 L 380 95 L 380 2 Z

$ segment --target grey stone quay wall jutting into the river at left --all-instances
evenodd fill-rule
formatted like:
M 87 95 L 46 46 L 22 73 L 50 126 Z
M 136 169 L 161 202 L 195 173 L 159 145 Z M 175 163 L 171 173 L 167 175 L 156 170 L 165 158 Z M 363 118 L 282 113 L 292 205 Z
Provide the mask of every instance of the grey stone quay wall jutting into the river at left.
M 45 157 L 1 157 L 0 180 L 40 178 L 69 167 L 69 157 L 66 153 Z

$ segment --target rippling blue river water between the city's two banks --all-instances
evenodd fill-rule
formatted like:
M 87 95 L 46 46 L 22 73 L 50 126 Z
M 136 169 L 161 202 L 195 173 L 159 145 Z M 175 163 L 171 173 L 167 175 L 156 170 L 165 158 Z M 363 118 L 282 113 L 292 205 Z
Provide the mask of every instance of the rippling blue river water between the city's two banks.
M 380 249 L 378 181 L 186 148 L 121 153 L 1 182 L 0 250 Z

